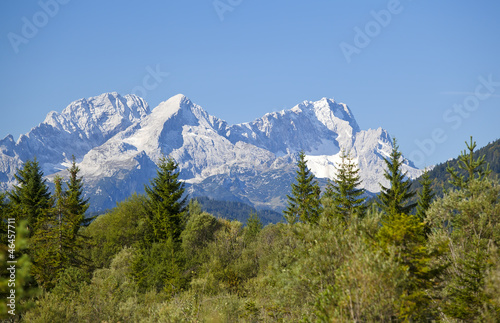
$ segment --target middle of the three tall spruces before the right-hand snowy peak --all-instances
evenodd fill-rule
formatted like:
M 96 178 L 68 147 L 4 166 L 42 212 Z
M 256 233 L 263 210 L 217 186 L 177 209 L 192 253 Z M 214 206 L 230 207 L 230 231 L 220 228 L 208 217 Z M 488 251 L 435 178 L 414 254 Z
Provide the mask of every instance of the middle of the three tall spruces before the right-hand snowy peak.
M 331 199 L 334 214 L 346 221 L 353 214 L 363 216 L 365 213 L 365 190 L 361 185 L 359 168 L 350 153 L 342 150 L 340 167 L 337 167 L 335 179 L 328 182 L 325 197 Z

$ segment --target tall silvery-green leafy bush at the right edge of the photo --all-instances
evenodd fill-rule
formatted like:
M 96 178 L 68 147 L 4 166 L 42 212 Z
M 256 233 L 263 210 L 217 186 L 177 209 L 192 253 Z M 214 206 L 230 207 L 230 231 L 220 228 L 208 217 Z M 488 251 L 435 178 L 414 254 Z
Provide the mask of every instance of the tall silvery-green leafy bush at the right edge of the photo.
M 484 311 L 500 311 L 487 293 L 486 277 L 493 270 L 500 245 L 500 186 L 473 179 L 436 200 L 428 211 L 434 239 L 447 242 L 443 312 L 461 320 L 486 320 Z M 492 299 L 493 298 L 493 299 Z M 484 314 L 485 315 L 485 314 Z

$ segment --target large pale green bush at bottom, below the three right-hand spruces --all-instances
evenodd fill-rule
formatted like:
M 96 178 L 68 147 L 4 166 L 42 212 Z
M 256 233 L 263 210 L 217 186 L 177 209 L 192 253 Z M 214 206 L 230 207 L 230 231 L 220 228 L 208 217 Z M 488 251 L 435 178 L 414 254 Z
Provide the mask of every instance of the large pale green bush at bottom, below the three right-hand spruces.
M 354 233 L 354 232 L 353 232 Z M 349 239 L 346 257 L 336 268 L 335 282 L 315 303 L 319 322 L 389 322 L 398 317 L 396 300 L 406 274 L 394 253 L 373 248 L 362 236 Z

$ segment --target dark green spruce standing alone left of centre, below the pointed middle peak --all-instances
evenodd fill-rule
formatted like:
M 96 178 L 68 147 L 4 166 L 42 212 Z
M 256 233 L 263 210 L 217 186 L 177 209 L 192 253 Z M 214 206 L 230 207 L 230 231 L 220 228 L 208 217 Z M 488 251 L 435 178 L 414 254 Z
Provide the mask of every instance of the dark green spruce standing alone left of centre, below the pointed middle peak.
M 153 241 L 179 242 L 184 229 L 187 196 L 177 167 L 173 158 L 161 157 L 157 176 L 145 187 Z

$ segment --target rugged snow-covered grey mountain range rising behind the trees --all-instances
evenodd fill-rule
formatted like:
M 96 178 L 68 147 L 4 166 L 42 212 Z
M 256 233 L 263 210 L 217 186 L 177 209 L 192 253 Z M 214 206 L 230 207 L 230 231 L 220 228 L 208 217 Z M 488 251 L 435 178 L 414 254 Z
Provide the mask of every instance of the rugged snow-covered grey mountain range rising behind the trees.
M 335 175 L 340 150 L 358 163 L 362 186 L 379 191 L 389 133 L 361 130 L 350 108 L 333 99 L 304 101 L 252 122 L 230 125 L 178 94 L 150 110 L 135 95 L 118 93 L 80 99 L 21 135 L 0 140 L 0 189 L 15 185 L 14 174 L 34 157 L 50 180 L 67 176 L 75 156 L 92 211 L 114 207 L 156 175 L 162 154 L 179 164 L 191 196 L 238 201 L 257 209 L 282 210 L 303 150 L 324 186 Z M 404 159 L 408 177 L 421 174 Z

